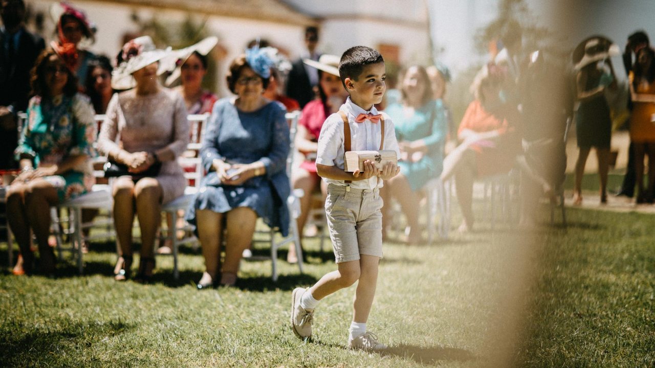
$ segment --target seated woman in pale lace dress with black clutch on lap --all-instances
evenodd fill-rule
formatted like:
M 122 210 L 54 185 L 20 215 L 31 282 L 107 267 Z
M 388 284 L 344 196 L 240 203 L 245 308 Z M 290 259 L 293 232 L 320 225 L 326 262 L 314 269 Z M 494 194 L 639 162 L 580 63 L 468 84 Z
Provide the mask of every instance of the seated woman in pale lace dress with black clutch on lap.
M 161 223 L 160 205 L 181 196 L 186 187 L 176 158 L 189 142 L 189 122 L 181 96 L 157 80 L 157 60 L 165 53 L 155 50 L 147 36 L 130 41 L 123 50 L 124 61 L 113 81 L 124 87 L 130 84 L 126 82 L 131 76 L 136 88 L 115 94 L 109 101 L 98 148 L 110 160 L 128 166 L 133 174 L 118 177 L 113 184 L 114 224 L 122 253 L 115 278 L 123 281 L 130 276 L 136 214 L 141 227 L 138 279 L 147 282 L 155 268 L 153 248 Z M 158 162 L 161 169 L 157 176 L 140 175 Z

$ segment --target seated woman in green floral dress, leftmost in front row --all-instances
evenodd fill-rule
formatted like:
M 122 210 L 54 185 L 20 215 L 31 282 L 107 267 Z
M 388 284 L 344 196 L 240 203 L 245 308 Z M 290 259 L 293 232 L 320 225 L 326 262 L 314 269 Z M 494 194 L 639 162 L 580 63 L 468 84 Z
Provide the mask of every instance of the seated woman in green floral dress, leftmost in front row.
M 40 271 L 50 274 L 54 253 L 48 246 L 48 208 L 91 189 L 96 129 L 93 107 L 77 94 L 77 79 L 54 51 L 39 56 L 31 84 L 35 96 L 16 149 L 22 172 L 9 187 L 7 210 L 22 256 L 14 273 L 32 271 L 31 229 L 39 244 Z

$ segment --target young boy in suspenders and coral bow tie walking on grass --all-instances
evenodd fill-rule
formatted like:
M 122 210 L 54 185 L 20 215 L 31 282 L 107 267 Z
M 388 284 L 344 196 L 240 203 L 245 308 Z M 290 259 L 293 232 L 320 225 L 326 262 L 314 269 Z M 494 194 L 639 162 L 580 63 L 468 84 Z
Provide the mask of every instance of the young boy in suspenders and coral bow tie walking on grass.
M 297 337 L 310 337 L 314 308 L 319 301 L 359 281 L 348 347 L 381 350 L 386 345 L 366 331 L 382 258 L 383 201 L 379 189 L 384 180 L 398 175 L 400 168 L 388 163 L 378 170 L 367 160 L 364 171 L 346 172 L 344 153 L 392 149 L 400 157 L 400 151 L 394 124 L 373 106 L 382 101 L 386 88 L 384 60 L 379 52 L 365 46 L 349 48 L 341 56 L 339 75 L 350 97 L 339 113 L 327 117 L 323 124 L 316 158 L 318 175 L 327 183 L 327 224 L 339 269 L 329 272 L 309 289 L 293 290 L 291 326 Z

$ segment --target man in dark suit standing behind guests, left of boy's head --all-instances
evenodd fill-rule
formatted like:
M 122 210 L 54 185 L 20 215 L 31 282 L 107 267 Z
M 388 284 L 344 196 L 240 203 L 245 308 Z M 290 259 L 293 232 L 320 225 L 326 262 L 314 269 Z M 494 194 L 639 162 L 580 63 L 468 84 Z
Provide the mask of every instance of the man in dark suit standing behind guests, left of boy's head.
M 318 70 L 303 63 L 303 59 L 318 62 L 318 58 L 321 56 L 316 51 L 318 28 L 307 27 L 305 29 L 305 45 L 307 46 L 307 52 L 293 62 L 286 84 L 286 95 L 298 101 L 301 109 L 316 96 L 315 88 L 318 86 Z

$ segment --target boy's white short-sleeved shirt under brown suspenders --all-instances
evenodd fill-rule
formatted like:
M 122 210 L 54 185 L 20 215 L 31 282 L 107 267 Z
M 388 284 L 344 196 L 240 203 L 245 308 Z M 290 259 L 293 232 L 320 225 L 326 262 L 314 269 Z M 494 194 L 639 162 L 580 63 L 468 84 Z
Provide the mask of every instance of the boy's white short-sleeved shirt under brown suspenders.
M 346 113 L 348 123 L 350 124 L 350 151 L 377 151 L 380 149 L 381 126 L 380 122 L 374 123 L 370 120 L 365 122 L 355 122 L 355 118 L 360 114 L 371 113 L 377 115 L 381 113 L 384 117 L 384 147 L 383 149 L 392 149 L 396 151 L 396 158 L 400 158 L 400 149 L 398 140 L 396 140 L 396 129 L 389 115 L 378 112 L 373 106 L 369 111 L 355 105 L 350 101 L 350 97 L 341 105 L 339 110 Z M 337 166 L 343 170 L 343 119 L 341 115 L 335 113 L 327 117 L 318 136 L 318 152 L 316 153 L 316 164 L 326 166 Z M 346 185 L 343 180 L 334 180 L 323 178 L 327 184 Z M 350 187 L 355 189 L 375 189 L 383 187 L 384 181 L 376 176 L 366 180 L 353 180 Z

